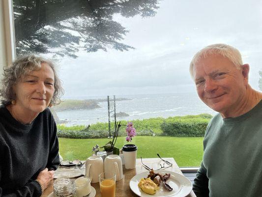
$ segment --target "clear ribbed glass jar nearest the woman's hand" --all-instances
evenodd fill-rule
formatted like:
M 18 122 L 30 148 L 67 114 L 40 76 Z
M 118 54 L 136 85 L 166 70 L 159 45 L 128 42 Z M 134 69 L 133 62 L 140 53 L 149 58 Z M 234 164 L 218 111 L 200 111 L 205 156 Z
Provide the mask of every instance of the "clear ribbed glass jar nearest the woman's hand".
M 54 181 L 54 197 L 76 197 L 76 186 L 69 178 Z

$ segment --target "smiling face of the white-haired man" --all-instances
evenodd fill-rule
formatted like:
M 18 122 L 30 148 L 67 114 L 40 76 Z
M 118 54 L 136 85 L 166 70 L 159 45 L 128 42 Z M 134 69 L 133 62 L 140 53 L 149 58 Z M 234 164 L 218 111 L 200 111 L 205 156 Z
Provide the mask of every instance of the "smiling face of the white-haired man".
M 248 84 L 242 68 L 221 55 L 201 58 L 193 67 L 193 78 L 200 99 L 225 117 L 239 107 Z

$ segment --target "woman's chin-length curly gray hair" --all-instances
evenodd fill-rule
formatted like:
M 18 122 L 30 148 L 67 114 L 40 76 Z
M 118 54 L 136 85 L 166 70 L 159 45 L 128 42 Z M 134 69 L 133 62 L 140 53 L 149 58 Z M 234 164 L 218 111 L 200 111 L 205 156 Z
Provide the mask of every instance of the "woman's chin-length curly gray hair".
M 1 103 L 3 105 L 9 105 L 12 100 L 16 99 L 13 86 L 22 76 L 29 74 L 33 70 L 39 70 L 41 68 L 41 63 L 48 64 L 54 71 L 55 75 L 55 92 L 50 103 L 53 105 L 60 103 L 60 98 L 63 95 L 64 90 L 61 86 L 61 81 L 58 78 L 54 63 L 36 55 L 29 55 L 16 60 L 11 66 L 3 68 L 3 78 L 0 81 L 0 96 L 2 97 Z

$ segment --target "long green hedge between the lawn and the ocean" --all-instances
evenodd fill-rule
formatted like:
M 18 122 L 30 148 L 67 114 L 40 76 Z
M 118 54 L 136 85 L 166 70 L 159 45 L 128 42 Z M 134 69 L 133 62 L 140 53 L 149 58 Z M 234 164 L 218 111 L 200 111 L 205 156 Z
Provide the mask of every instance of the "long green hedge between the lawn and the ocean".
M 149 118 L 133 120 L 137 135 L 198 137 L 204 136 L 206 126 L 212 118 L 209 114 L 175 116 L 169 118 Z M 127 121 L 121 121 L 126 125 Z M 111 123 L 111 135 L 114 134 L 114 125 Z M 96 123 L 84 126 L 58 126 L 58 137 L 65 138 L 107 138 L 109 136 L 108 123 Z M 125 127 L 120 127 L 118 136 L 126 136 Z

